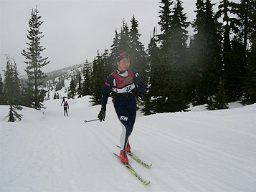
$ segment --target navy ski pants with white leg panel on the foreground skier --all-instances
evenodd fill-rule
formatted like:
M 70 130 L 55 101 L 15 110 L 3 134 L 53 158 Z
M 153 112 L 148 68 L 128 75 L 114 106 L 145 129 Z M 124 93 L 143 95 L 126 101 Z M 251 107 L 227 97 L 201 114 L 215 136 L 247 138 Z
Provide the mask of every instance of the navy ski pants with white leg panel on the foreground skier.
M 128 97 L 125 99 L 114 100 L 115 112 L 118 115 L 123 132 L 120 136 L 120 148 L 125 150 L 128 138 L 133 131 L 133 125 L 136 119 L 136 98 Z

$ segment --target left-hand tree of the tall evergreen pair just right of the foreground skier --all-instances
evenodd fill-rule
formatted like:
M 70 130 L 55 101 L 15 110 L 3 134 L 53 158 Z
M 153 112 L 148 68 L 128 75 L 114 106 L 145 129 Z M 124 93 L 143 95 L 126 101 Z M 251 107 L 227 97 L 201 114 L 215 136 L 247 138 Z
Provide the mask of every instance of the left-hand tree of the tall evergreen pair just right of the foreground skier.
M 158 42 L 160 43 L 160 49 L 158 52 L 158 66 L 154 70 L 151 67 L 151 73 L 155 73 L 157 79 L 152 79 L 155 82 L 151 84 L 151 87 L 155 86 L 158 91 L 154 92 L 155 95 L 152 98 L 152 105 L 155 107 L 154 112 L 171 112 L 171 5 L 174 1 L 162 0 L 159 11 L 160 21 L 158 24 L 161 27 L 162 34 L 158 35 Z M 155 88 L 153 88 L 155 89 Z

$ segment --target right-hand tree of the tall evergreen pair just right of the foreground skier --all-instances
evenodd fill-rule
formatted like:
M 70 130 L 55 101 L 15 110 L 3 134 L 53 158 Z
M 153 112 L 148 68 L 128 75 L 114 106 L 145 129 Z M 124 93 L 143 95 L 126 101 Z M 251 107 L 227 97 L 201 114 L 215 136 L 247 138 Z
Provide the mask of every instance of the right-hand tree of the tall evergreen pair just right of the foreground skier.
M 189 22 L 184 14 L 184 8 L 180 0 L 176 1 L 171 19 L 171 105 L 173 111 L 186 110 L 189 98 L 186 98 L 187 87 L 187 62 L 188 62 L 188 31 Z

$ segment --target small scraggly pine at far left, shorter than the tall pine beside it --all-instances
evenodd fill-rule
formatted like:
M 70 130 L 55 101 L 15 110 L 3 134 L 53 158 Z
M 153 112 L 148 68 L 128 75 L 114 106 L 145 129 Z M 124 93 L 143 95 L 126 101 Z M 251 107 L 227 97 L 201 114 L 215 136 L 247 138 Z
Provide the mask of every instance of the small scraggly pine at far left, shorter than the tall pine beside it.
M 16 119 L 22 120 L 22 115 L 19 115 L 16 110 L 22 110 L 20 104 L 21 85 L 19 73 L 16 69 L 16 62 L 9 56 L 6 56 L 6 71 L 4 72 L 4 93 L 6 95 L 6 104 L 10 105 L 9 122 L 14 122 Z

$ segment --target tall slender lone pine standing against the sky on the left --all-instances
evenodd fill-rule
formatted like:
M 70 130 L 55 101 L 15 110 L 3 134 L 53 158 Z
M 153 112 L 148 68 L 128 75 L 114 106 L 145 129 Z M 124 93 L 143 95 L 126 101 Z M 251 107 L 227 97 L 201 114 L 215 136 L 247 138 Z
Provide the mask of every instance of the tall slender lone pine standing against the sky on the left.
M 40 110 L 43 105 L 45 91 L 42 90 L 42 80 L 44 79 L 44 73 L 42 72 L 42 67 L 49 63 L 47 57 L 42 57 L 42 52 L 45 48 L 40 45 L 42 39 L 42 32 L 39 31 L 39 27 L 43 24 L 43 21 L 40 21 L 42 16 L 38 16 L 39 11 L 32 9 L 31 18 L 29 19 L 29 34 L 27 38 L 29 39 L 29 47 L 26 50 L 23 50 L 22 55 L 27 59 L 25 62 L 27 68 L 27 76 L 29 78 L 29 87 L 33 87 L 33 92 L 30 94 L 33 95 L 33 100 L 31 101 L 32 106 Z

